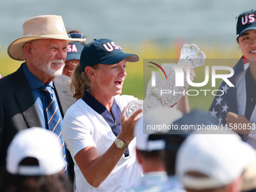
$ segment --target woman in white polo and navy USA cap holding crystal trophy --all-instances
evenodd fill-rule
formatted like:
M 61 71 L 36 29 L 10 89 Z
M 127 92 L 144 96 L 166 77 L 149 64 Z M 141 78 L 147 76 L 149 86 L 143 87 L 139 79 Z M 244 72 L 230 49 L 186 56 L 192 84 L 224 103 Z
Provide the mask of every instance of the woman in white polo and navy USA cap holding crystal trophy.
M 137 61 L 139 56 L 123 53 L 109 39 L 95 39 L 81 53 L 71 78 L 78 101 L 66 112 L 62 126 L 75 162 L 77 192 L 123 191 L 142 177 L 133 139 L 142 110 L 125 119 L 123 108 L 136 98 L 119 96 L 126 62 Z

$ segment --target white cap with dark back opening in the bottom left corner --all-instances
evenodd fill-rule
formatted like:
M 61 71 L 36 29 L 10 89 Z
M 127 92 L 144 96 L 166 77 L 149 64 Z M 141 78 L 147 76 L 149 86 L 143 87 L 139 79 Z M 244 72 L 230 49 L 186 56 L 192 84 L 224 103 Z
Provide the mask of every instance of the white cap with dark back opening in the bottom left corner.
M 39 166 L 19 166 L 26 157 L 34 157 Z M 14 175 L 53 175 L 66 166 L 60 139 L 43 128 L 21 130 L 8 147 L 6 169 Z

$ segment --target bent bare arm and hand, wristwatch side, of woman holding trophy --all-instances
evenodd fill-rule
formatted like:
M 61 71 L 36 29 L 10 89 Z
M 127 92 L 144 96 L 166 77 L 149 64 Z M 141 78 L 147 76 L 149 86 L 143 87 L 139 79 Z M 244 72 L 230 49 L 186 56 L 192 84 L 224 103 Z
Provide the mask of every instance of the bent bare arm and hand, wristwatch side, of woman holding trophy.
M 123 140 L 126 145 L 129 145 L 133 140 L 133 129 L 137 121 L 136 116 L 141 112 L 142 109 L 139 109 L 129 118 L 125 118 L 124 110 L 121 114 L 120 123 L 122 130 L 118 138 Z M 98 156 L 96 147 L 89 146 L 81 149 L 75 155 L 75 161 L 78 163 L 79 169 L 81 169 L 87 182 L 93 187 L 99 187 L 117 165 L 124 151 L 125 149 L 117 148 L 113 142 L 104 154 Z

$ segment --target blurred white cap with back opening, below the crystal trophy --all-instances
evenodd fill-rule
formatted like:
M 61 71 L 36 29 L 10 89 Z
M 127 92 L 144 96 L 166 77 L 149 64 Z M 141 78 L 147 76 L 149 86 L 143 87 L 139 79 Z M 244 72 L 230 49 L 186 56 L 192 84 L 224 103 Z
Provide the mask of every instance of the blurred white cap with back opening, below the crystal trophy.
M 134 136 L 136 136 L 136 148 L 141 151 L 159 151 L 165 148 L 165 141 L 163 139 L 149 139 L 149 136 L 154 133 L 166 133 L 169 130 L 167 126 L 172 125 L 175 120 L 182 117 L 181 111 L 175 108 L 154 108 L 148 111 L 141 117 L 134 127 Z M 148 125 L 151 128 L 157 125 L 161 126 L 161 130 L 148 130 Z M 166 129 L 163 125 L 166 125 Z M 144 126 L 144 128 L 143 128 Z M 159 128 L 159 127 L 158 127 Z M 143 133 L 143 130 L 145 133 Z

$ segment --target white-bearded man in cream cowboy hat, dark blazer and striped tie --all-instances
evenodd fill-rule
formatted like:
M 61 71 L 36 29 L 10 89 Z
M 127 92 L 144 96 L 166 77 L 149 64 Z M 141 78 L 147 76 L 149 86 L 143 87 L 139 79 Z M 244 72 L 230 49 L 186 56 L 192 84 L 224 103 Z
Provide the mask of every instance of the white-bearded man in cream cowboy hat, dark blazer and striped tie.
M 12 59 L 25 62 L 17 72 L 0 81 L 0 166 L 5 166 L 8 145 L 20 130 L 39 126 L 56 133 L 59 129 L 56 134 L 62 137 L 62 117 L 75 102 L 69 89 L 69 78 L 62 75 L 70 41 L 85 39 L 69 38 L 62 17 L 43 15 L 26 20 L 23 37 L 17 38 L 8 47 Z M 50 120 L 47 120 L 44 86 L 50 87 L 49 92 L 55 100 L 56 113 L 52 118 L 59 114 L 57 128 L 50 127 Z M 65 148 L 63 153 L 65 155 Z

